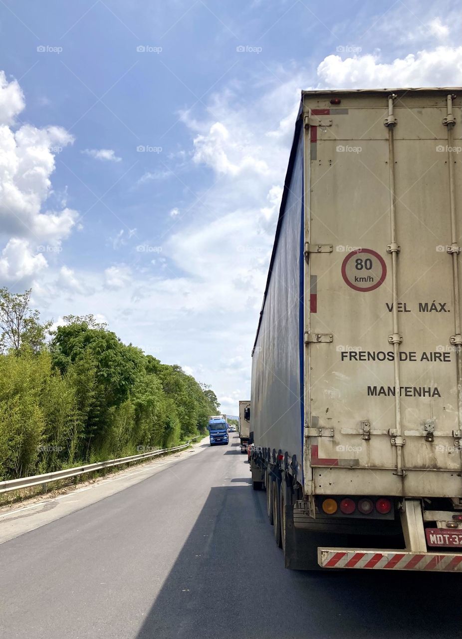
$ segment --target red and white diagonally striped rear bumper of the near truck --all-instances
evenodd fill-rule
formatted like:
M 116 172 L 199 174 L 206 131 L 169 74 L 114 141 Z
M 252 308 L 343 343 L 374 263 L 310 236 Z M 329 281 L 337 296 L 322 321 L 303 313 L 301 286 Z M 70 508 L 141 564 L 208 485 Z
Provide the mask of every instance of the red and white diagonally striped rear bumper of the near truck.
M 382 570 L 427 570 L 462 572 L 462 553 L 436 554 L 399 550 L 359 548 L 318 548 L 318 564 L 323 568 L 369 568 Z

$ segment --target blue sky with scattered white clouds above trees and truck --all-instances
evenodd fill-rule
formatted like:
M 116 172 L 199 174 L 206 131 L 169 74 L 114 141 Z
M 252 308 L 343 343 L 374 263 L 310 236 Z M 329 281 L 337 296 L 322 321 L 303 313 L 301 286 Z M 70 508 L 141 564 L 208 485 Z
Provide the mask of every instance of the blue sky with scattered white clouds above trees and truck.
M 0 0 L 0 286 L 249 399 L 302 89 L 462 85 L 455 1 Z

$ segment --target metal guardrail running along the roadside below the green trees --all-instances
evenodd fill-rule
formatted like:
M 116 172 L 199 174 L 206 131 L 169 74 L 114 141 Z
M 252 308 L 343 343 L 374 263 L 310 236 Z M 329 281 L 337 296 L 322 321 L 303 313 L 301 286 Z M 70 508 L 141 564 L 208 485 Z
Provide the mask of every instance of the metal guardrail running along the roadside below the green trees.
M 83 475 L 84 473 L 91 473 L 93 470 L 102 470 L 103 468 L 111 468 L 111 466 L 118 466 L 119 464 L 127 464 L 130 461 L 138 461 L 139 459 L 148 459 L 150 457 L 156 457 L 166 452 L 174 452 L 175 450 L 183 450 L 187 448 L 191 442 L 197 440 L 202 435 L 197 435 L 189 440 L 189 442 L 181 445 L 174 446 L 173 448 L 164 448 L 162 450 L 153 450 L 151 452 L 142 452 L 139 455 L 132 455 L 131 457 L 120 457 L 118 459 L 107 459 L 106 461 L 98 461 L 95 464 L 86 464 L 84 466 L 75 466 L 75 468 L 65 468 L 65 470 L 56 470 L 53 473 L 45 473 L 44 475 L 33 475 L 32 477 L 20 477 L 19 479 L 8 479 L 7 481 L 0 482 L 0 495 L 2 493 L 9 493 L 12 490 L 19 490 L 20 488 L 31 488 L 32 486 L 41 486 L 48 484 L 51 481 L 57 481 L 58 479 L 68 479 L 69 477 L 77 477 L 77 475 Z

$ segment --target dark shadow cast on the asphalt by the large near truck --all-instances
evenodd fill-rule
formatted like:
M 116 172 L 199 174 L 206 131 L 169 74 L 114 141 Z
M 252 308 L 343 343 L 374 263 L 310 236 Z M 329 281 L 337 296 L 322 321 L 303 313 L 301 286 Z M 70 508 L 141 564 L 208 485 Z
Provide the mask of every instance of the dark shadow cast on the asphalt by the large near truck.
M 231 479 L 211 489 L 137 638 L 447 639 L 459 636 L 452 606 L 460 580 L 288 571 L 266 519 L 265 493 L 247 478 Z

